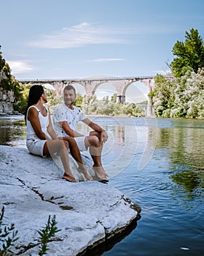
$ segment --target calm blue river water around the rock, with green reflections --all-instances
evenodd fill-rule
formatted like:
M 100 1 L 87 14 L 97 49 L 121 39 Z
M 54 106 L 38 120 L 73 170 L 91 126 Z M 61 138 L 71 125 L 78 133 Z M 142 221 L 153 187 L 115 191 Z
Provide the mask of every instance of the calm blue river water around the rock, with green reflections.
M 204 120 L 96 117 L 109 133 L 109 184 L 141 206 L 128 236 L 95 255 L 204 255 Z M 82 129 L 85 129 L 82 127 Z M 0 118 L 0 144 L 26 147 L 22 116 Z

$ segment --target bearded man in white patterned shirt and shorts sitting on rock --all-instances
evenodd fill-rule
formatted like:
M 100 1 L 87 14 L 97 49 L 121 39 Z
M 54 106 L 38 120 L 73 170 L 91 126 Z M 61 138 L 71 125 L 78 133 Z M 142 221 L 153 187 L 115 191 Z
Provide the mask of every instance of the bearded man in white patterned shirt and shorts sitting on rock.
M 108 140 L 109 136 L 102 127 L 90 121 L 82 110 L 74 106 L 75 99 L 76 91 L 74 87 L 66 86 L 63 89 L 64 104 L 58 105 L 53 112 L 55 132 L 63 140 L 66 140 L 68 136 L 73 137 L 80 151 L 87 151 L 87 148 L 89 148 L 96 176 L 101 180 L 106 180 L 108 175 L 101 163 L 101 153 L 103 143 Z M 93 129 L 88 136 L 82 135 L 77 131 L 79 121 L 83 121 L 88 127 Z

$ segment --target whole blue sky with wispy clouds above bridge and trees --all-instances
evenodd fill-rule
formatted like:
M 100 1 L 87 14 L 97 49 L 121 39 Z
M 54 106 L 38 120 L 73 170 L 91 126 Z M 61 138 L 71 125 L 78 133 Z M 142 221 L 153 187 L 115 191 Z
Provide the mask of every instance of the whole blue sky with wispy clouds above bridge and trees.
M 0 0 L 0 45 L 17 79 L 165 74 L 203 0 Z

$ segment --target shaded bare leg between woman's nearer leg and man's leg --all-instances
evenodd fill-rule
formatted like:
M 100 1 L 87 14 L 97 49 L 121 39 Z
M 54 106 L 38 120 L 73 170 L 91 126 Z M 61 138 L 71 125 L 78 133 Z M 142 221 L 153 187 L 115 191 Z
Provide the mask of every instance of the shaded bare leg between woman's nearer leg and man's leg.
M 92 176 L 90 176 L 87 173 L 87 168 L 85 167 L 85 165 L 83 163 L 82 155 L 81 155 L 79 148 L 76 144 L 76 140 L 74 140 L 74 138 L 72 138 L 72 137 L 59 137 L 59 139 L 68 141 L 71 156 L 74 158 L 74 160 L 76 160 L 77 164 L 79 165 L 79 167 L 77 168 L 79 173 L 83 173 L 85 178 L 87 178 L 87 180 L 93 181 Z

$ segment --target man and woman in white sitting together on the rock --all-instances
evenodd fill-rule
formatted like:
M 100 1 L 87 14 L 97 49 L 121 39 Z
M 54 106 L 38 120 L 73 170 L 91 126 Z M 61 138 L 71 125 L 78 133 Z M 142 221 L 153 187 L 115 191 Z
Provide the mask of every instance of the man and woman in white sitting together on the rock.
M 96 179 L 106 181 L 108 175 L 101 164 L 101 152 L 109 136 L 102 127 L 90 121 L 82 110 L 74 106 L 75 99 L 74 87 L 66 86 L 63 89 L 64 103 L 58 105 L 53 112 L 53 128 L 49 110 L 44 105 L 47 103 L 46 92 L 42 86 L 31 86 L 25 113 L 26 146 L 31 154 L 42 157 L 58 153 L 63 164 L 63 178 L 71 182 L 76 182 L 76 178 L 71 173 L 68 150 L 77 162 L 79 173 L 83 173 L 87 180 L 93 180 L 87 173 L 80 153 L 89 148 Z M 87 136 L 77 132 L 79 121 L 83 121 L 93 131 Z

